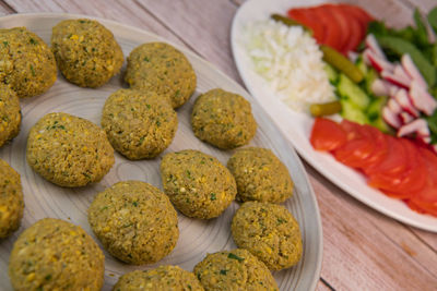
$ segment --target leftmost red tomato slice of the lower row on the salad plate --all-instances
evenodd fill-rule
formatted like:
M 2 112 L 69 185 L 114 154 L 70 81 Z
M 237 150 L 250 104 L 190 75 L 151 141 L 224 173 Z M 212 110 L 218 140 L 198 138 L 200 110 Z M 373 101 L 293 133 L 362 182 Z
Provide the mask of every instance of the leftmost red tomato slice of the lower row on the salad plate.
M 316 118 L 309 141 L 317 150 L 334 150 L 346 143 L 346 133 L 336 122 Z

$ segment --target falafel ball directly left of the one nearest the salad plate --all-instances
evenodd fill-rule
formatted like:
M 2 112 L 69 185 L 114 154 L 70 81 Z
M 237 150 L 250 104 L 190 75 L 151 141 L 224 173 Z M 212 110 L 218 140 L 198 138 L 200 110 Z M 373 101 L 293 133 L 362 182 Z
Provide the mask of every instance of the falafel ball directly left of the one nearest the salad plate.
M 129 159 L 153 158 L 175 137 L 177 114 L 152 90 L 119 89 L 105 102 L 102 128 L 113 147 Z

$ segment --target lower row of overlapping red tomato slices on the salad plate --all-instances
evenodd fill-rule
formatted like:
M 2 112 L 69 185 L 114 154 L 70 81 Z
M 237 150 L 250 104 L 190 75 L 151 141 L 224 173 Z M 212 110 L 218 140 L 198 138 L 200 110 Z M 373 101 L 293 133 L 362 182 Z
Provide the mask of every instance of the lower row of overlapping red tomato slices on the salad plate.
M 437 214 L 437 156 L 408 138 L 370 125 L 318 118 L 310 137 L 317 150 L 363 172 L 367 183 L 421 213 Z

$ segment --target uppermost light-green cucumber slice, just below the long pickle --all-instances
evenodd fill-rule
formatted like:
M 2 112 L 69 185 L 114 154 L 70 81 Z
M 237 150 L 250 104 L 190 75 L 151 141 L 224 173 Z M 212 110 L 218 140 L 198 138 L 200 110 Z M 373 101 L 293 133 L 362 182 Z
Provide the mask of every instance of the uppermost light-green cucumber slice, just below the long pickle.
M 362 111 L 370 104 L 370 97 L 344 74 L 340 74 L 338 90 L 342 99 L 349 100 Z

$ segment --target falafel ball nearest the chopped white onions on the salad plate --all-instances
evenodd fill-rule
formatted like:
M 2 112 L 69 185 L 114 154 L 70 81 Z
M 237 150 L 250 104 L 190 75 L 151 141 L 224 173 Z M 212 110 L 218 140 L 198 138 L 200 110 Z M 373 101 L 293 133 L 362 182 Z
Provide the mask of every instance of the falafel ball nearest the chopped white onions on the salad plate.
M 191 125 L 199 140 L 222 149 L 248 144 L 257 131 L 249 101 L 223 89 L 209 90 L 196 99 Z

